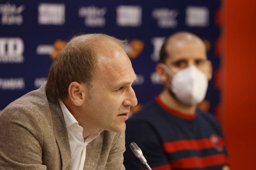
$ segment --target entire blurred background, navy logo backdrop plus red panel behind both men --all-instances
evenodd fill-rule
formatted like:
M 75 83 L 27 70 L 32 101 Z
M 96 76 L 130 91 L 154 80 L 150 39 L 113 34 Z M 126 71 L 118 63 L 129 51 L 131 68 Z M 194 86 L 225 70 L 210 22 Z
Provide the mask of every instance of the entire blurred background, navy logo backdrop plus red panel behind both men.
M 0 112 L 46 80 L 52 60 L 78 33 L 127 39 L 138 80 L 136 113 L 162 89 L 155 74 L 164 38 L 177 31 L 200 36 L 213 78 L 199 105 L 222 123 L 231 169 L 256 169 L 255 0 L 1 1 Z

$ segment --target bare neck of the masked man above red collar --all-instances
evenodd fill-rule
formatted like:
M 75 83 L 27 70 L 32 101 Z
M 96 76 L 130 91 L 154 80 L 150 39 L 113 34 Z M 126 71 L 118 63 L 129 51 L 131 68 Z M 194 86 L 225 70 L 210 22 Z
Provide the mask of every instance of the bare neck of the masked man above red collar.
M 197 105 L 187 105 L 180 103 L 177 99 L 175 99 L 172 94 L 170 94 L 167 88 L 164 88 L 164 91 L 160 93 L 160 99 L 162 102 L 171 107 L 172 109 L 187 115 L 194 114 L 196 112 Z

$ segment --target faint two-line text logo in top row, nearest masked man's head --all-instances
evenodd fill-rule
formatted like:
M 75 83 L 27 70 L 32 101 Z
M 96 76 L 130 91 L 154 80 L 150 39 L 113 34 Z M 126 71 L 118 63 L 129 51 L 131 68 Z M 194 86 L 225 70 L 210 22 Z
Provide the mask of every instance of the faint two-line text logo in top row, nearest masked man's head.
M 178 25 L 176 17 L 178 11 L 168 8 L 156 8 L 152 11 L 152 17 L 157 19 L 157 26 L 159 28 L 175 28 Z

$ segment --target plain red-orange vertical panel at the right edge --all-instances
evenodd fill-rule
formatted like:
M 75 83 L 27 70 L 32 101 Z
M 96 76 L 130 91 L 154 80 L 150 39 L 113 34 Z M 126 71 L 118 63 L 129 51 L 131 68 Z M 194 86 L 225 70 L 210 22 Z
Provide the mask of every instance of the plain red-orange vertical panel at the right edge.
M 223 125 L 231 170 L 256 169 L 256 1 L 224 0 Z

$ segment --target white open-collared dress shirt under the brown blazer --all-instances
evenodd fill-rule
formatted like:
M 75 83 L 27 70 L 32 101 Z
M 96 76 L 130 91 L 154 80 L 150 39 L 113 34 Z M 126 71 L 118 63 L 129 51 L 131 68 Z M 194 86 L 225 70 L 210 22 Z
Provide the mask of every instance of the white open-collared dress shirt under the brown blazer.
M 71 151 L 70 170 L 83 170 L 86 155 L 86 146 L 93 139 L 98 137 L 102 130 L 99 130 L 98 132 L 89 135 L 84 139 L 83 127 L 78 125 L 78 122 L 76 121 L 74 116 L 69 112 L 68 108 L 65 106 L 63 101 L 59 100 L 59 103 L 68 131 L 68 139 Z

